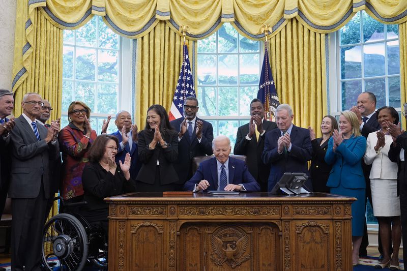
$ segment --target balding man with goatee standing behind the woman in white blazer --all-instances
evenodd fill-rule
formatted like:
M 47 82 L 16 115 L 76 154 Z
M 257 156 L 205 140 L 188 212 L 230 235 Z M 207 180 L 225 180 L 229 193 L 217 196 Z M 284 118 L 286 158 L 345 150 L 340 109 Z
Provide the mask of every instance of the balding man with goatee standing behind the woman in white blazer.
M 367 136 L 371 132 L 375 132 L 380 129 L 380 124 L 377 121 L 377 117 L 376 117 L 376 96 L 374 96 L 373 93 L 364 92 L 364 93 L 359 94 L 357 106 L 353 106 L 351 108 L 351 110 L 358 116 L 360 132 L 365 138 L 367 138 Z M 372 206 L 372 208 L 373 208 L 372 192 L 370 190 L 370 178 L 369 178 L 371 168 L 372 168 L 372 166 L 366 165 L 366 163 L 362 159 L 363 175 L 364 175 L 365 181 L 366 181 L 366 203 L 367 203 L 367 199 L 369 199 L 370 206 Z M 380 252 L 381 256 L 383 256 L 382 242 L 380 240 L 380 233 L 378 233 L 377 239 L 379 242 L 379 252 Z M 366 224 L 366 220 L 365 220 L 365 227 L 363 230 L 362 244 L 360 245 L 360 249 L 359 249 L 359 256 L 361 256 L 361 257 L 367 256 L 367 246 L 369 246 L 369 239 L 368 239 L 368 235 L 367 235 L 367 224 Z M 393 251 L 393 249 L 390 248 L 390 252 L 392 252 L 392 251 Z

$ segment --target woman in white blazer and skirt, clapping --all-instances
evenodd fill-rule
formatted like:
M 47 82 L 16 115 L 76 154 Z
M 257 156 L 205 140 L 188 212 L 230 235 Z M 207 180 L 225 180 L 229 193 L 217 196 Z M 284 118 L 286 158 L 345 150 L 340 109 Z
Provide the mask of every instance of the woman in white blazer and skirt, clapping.
M 388 133 L 390 123 L 398 124 L 398 113 L 393 107 L 384 106 L 377 110 L 381 129 L 367 137 L 364 161 L 372 165 L 370 188 L 372 191 L 373 215 L 379 222 L 380 239 L 383 244 L 383 260 L 375 268 L 398 269 L 398 250 L 401 243 L 400 201 L 397 197 L 397 163 L 390 161 L 388 154 L 393 143 Z M 393 243 L 393 255 L 390 245 Z

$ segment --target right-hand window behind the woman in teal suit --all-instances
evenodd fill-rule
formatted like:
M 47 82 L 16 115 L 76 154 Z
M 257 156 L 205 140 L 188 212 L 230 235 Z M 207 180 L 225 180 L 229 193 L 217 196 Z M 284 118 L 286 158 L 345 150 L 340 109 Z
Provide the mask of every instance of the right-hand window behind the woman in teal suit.
M 337 108 L 349 109 L 362 92 L 377 98 L 376 108 L 400 108 L 398 25 L 383 24 L 358 12 L 337 32 L 339 60 Z M 334 110 L 340 111 L 340 110 Z

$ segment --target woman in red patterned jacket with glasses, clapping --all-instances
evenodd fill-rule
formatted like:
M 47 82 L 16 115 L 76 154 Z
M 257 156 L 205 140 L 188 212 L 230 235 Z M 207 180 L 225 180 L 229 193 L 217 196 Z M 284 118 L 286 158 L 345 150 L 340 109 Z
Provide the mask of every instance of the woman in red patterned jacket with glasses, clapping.
M 89 117 L 91 109 L 85 103 L 74 101 L 68 108 L 69 124 L 59 133 L 62 152 L 61 196 L 65 202 L 83 200 L 82 172 L 89 163 L 88 150 L 96 139 Z M 64 212 L 74 212 L 75 208 L 64 208 Z

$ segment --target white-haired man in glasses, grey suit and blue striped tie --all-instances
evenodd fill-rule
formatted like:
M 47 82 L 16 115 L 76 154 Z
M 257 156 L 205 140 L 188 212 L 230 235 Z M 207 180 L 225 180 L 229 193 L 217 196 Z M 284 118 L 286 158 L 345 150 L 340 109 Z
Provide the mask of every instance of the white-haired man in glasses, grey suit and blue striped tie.
M 23 113 L 11 130 L 11 269 L 41 270 L 42 229 L 50 195 L 49 161 L 59 156 L 58 122 L 47 130 L 36 117 L 43 106 L 36 93 L 24 95 Z

